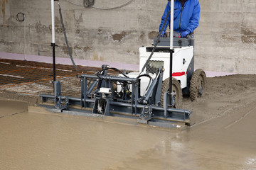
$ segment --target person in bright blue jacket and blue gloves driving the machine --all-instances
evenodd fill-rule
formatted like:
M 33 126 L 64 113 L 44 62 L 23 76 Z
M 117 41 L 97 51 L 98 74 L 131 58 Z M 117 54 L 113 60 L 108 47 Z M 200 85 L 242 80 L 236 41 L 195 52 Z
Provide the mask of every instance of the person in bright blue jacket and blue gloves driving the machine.
M 170 16 L 164 25 L 167 13 L 170 11 L 171 1 L 168 1 L 164 15 L 161 18 L 159 32 L 161 37 L 166 35 L 166 28 L 170 26 Z M 198 27 L 200 18 L 200 4 L 198 0 L 174 0 L 174 37 L 193 37 L 193 31 Z M 161 28 L 164 27 L 163 31 Z

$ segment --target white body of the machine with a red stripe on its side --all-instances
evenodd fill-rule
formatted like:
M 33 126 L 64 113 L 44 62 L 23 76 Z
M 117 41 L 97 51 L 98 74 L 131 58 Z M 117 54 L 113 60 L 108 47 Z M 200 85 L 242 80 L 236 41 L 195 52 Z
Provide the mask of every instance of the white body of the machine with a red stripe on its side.
M 139 72 L 131 72 L 127 74 L 128 77 L 137 78 L 139 73 L 142 72 L 142 67 L 148 60 L 151 55 L 151 51 L 147 50 L 148 47 L 140 47 L 139 48 Z M 187 87 L 187 71 L 192 69 L 188 68 L 191 60 L 193 58 L 193 46 L 188 47 L 174 47 L 173 54 L 173 74 L 172 77 L 177 79 L 181 84 L 181 89 Z M 151 57 L 151 60 L 148 63 L 149 66 L 146 66 L 144 72 L 142 74 L 149 74 L 152 78 L 156 76 L 156 74 L 151 73 L 149 69 L 152 67 L 164 68 L 163 81 L 169 78 L 170 72 L 170 53 L 163 51 L 155 51 Z M 121 74 L 119 75 L 123 77 Z M 140 77 L 141 79 L 141 96 L 146 93 L 146 88 L 149 85 L 148 77 Z M 117 86 L 117 90 L 120 90 L 121 86 Z

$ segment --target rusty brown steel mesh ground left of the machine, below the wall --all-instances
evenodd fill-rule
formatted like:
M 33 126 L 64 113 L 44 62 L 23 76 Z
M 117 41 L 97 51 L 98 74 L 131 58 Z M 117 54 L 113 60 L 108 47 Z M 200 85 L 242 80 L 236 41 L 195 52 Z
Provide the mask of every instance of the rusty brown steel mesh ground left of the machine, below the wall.
M 78 66 L 78 74 L 95 74 L 99 70 Z M 56 80 L 61 82 L 63 95 L 80 96 L 80 79 L 76 77 L 73 66 L 57 64 Z M 53 94 L 50 81 L 53 81 L 52 64 L 0 60 L 0 98 L 36 103 L 39 94 Z

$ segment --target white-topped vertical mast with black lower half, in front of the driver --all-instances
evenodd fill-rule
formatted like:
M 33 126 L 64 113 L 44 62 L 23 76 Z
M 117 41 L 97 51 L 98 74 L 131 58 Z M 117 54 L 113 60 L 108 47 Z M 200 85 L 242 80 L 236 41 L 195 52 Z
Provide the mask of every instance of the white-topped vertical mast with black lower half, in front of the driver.
M 169 73 L 169 106 L 171 106 L 172 61 L 174 54 L 174 0 L 171 0 L 170 13 L 170 73 Z

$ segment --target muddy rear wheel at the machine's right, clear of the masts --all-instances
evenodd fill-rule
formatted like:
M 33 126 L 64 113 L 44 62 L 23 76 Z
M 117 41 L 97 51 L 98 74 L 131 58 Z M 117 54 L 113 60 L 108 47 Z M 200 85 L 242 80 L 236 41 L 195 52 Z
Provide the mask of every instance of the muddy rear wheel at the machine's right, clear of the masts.
M 189 94 L 191 101 L 195 101 L 196 98 L 203 96 L 204 89 L 206 88 L 206 73 L 203 69 L 196 69 L 193 72 L 191 78 L 191 84 L 189 88 Z

